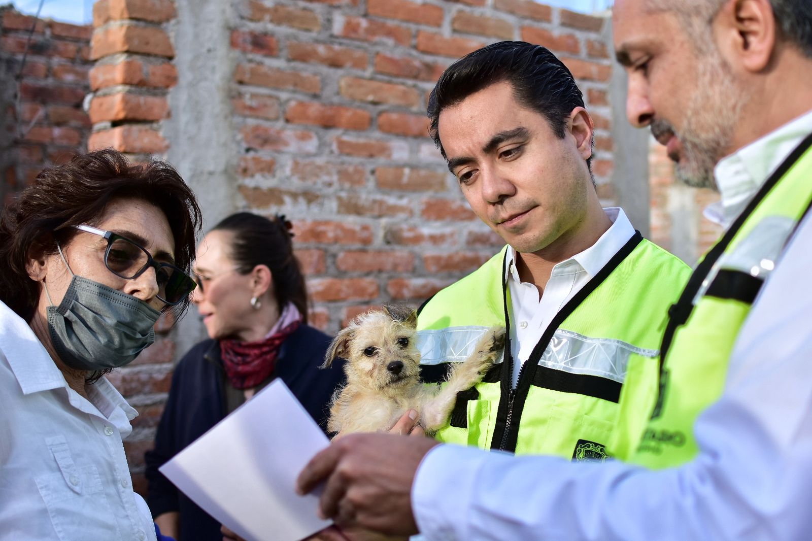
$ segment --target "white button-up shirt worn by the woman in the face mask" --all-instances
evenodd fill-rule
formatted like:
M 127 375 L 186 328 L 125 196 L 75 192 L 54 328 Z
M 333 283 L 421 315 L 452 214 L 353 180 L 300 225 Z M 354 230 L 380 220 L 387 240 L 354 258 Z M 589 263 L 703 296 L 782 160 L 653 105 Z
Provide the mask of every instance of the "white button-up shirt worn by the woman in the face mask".
M 86 388 L 0 302 L 0 540 L 154 541 L 121 441 L 136 410 L 105 378 Z

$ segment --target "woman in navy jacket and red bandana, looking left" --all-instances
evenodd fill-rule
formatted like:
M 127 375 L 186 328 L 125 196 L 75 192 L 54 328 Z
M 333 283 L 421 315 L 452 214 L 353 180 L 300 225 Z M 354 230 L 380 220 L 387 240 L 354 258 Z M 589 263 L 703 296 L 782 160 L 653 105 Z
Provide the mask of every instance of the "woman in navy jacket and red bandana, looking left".
M 326 427 L 343 368 L 318 370 L 330 336 L 307 324 L 307 290 L 283 216 L 232 214 L 201 241 L 192 297 L 209 340 L 175 369 L 155 448 L 146 453 L 149 507 L 161 530 L 181 541 L 220 541 L 220 524 L 158 471 L 272 379 L 291 389 Z

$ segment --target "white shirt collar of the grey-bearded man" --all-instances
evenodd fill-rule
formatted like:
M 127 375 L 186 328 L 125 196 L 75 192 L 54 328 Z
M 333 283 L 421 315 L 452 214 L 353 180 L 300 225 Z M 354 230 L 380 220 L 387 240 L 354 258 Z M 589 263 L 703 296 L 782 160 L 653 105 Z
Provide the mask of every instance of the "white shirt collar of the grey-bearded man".
M 720 160 L 714 177 L 722 198 L 708 206 L 704 213 L 706 218 L 728 227 L 767 177 L 810 132 L 812 110 Z

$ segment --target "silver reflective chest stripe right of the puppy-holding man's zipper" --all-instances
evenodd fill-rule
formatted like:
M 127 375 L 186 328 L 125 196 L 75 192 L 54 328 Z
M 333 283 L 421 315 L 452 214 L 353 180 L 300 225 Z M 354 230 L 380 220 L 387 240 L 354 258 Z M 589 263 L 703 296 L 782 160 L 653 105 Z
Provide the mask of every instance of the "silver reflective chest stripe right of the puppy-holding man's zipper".
M 559 329 L 538 364 L 571 374 L 596 375 L 623 383 L 628 358 L 633 353 L 657 357 L 658 349 L 644 349 L 611 338 L 592 338 Z

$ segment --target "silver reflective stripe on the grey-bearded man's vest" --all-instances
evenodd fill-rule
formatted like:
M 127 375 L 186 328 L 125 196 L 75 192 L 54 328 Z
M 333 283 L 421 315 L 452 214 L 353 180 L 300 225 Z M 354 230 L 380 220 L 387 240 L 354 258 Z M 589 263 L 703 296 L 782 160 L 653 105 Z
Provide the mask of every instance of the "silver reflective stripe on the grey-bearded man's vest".
M 696 305 L 722 269 L 740 271 L 756 278 L 767 279 L 775 262 L 784 251 L 784 245 L 795 228 L 796 221 L 786 216 L 767 216 L 740 240 L 736 247 L 725 252 L 711 267 L 711 271 L 693 297 Z

